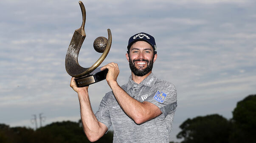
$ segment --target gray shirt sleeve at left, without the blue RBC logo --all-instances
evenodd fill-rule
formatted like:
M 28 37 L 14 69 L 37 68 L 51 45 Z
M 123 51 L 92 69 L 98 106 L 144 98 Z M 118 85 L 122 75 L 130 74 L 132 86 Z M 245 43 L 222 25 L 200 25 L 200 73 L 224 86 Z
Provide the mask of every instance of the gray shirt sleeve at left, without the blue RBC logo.
M 98 111 L 95 113 L 95 116 L 99 122 L 105 124 L 109 129 L 112 123 L 110 119 L 110 113 L 107 108 L 107 94 L 102 98 L 101 103 L 98 107 Z

